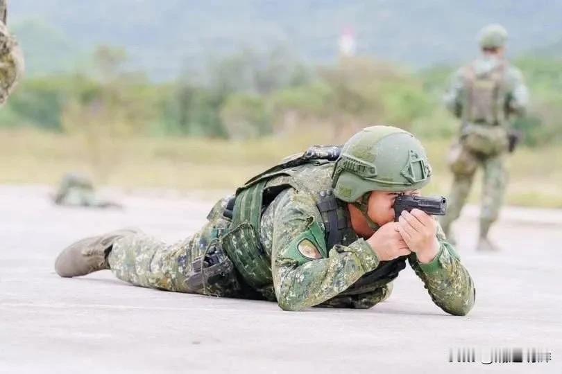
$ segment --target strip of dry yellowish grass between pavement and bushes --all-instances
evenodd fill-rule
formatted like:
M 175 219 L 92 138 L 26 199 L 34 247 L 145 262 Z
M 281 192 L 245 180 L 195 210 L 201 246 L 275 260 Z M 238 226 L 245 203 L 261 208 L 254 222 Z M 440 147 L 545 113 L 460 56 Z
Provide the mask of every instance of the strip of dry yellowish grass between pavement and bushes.
M 65 172 L 80 171 L 93 175 L 100 186 L 214 195 L 243 184 L 287 154 L 326 141 L 312 134 L 244 142 L 154 137 L 94 140 L 36 130 L 1 130 L 0 183 L 55 186 Z M 434 168 L 425 194 L 447 195 L 451 178 L 445 155 L 450 141 L 423 143 Z M 520 148 L 508 163 L 509 204 L 562 208 L 562 148 Z M 477 202 L 480 184 L 478 177 L 472 202 Z

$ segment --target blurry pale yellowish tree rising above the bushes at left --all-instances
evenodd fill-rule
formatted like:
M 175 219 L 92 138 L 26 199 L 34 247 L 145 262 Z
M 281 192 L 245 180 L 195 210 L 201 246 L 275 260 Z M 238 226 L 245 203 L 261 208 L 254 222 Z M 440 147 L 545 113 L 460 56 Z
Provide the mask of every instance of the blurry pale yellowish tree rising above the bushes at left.
M 122 149 L 117 139 L 146 130 L 155 117 L 154 98 L 144 77 L 124 69 L 126 53 L 99 46 L 94 52 L 96 75 L 76 77 L 75 92 L 65 105 L 62 125 L 80 134 L 99 181 L 118 165 Z

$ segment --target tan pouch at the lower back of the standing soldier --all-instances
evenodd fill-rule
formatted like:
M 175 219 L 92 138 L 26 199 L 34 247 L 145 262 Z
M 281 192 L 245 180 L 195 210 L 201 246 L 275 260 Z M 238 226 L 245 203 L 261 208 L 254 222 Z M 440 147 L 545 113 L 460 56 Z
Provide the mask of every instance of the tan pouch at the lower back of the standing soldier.
M 505 152 L 509 144 L 507 131 L 503 126 L 473 123 L 467 123 L 463 126 L 461 143 L 468 150 L 484 156 L 493 156 Z

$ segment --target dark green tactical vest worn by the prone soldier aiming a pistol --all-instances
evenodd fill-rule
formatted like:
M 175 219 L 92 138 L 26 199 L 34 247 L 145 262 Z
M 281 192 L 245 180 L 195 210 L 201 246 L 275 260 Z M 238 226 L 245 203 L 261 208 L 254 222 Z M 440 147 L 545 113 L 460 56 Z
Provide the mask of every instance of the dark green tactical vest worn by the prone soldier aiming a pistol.
M 340 150 L 339 147 L 310 148 L 305 154 L 286 159 L 253 177 L 237 190 L 227 207 L 227 211 L 231 209 L 232 223 L 221 242 L 244 281 L 255 290 L 273 284 L 271 258 L 260 243 L 259 227 L 264 209 L 282 190 L 305 191 L 314 199 L 322 216 L 327 251 L 334 245 L 347 246 L 357 240 L 347 204 L 334 197 L 331 189 L 332 171 Z M 405 268 L 406 258 L 381 262 L 344 294 L 364 293 L 388 283 Z

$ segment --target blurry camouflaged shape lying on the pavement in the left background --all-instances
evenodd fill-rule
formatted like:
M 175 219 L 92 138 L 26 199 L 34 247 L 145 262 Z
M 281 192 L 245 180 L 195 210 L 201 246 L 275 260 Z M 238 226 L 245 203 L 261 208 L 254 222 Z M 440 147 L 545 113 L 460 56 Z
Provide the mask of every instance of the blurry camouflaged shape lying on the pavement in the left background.
M 119 204 L 98 197 L 92 181 L 77 173 L 68 173 L 62 177 L 53 202 L 66 206 L 119 207 Z

